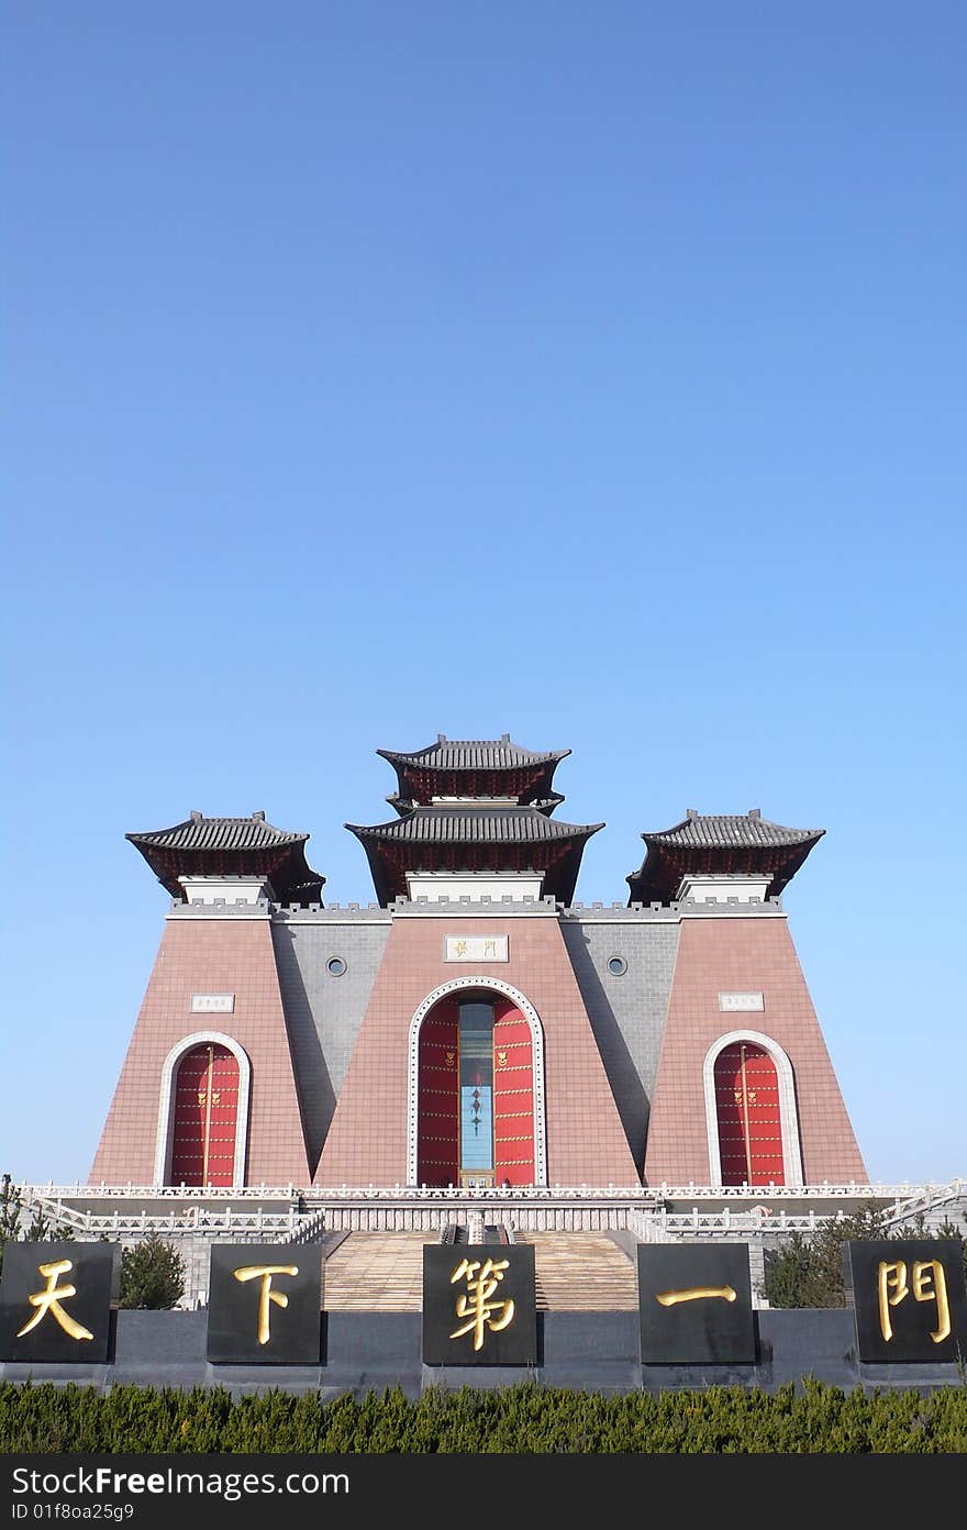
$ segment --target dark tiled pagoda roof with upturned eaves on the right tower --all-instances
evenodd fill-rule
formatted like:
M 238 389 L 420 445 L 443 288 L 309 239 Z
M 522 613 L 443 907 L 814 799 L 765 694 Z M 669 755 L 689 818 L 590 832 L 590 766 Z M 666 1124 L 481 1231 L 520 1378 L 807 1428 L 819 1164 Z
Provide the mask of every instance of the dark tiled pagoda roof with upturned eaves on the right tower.
M 632 903 L 670 903 L 687 874 L 765 875 L 767 897 L 777 898 L 796 875 L 825 829 L 794 829 L 747 814 L 701 814 L 695 808 L 681 823 L 641 835 L 646 858 L 627 877 Z

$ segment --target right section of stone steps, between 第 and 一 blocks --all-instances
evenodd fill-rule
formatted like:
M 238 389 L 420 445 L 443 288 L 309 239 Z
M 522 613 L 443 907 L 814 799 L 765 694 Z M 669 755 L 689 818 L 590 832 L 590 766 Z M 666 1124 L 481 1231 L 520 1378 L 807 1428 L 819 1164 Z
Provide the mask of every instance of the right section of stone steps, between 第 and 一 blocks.
M 539 1313 L 614 1313 L 638 1307 L 638 1271 L 606 1233 L 517 1233 L 534 1248 Z

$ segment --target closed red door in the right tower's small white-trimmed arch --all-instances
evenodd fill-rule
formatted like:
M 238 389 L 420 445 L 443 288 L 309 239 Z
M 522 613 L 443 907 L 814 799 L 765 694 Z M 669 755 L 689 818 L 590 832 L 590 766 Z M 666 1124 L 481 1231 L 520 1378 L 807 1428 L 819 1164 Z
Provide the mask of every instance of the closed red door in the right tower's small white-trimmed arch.
M 785 1184 L 776 1063 L 756 1042 L 731 1042 L 715 1060 L 722 1184 Z

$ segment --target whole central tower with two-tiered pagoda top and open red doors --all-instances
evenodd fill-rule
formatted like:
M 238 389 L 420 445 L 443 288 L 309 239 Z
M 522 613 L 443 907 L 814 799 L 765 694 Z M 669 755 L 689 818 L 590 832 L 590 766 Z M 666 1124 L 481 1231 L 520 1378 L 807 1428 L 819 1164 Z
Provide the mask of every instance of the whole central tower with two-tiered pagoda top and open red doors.
M 604 828 L 552 817 L 571 750 L 441 733 L 378 753 L 398 817 L 346 828 L 392 924 L 315 1183 L 349 1183 L 366 1144 L 373 1183 L 633 1184 L 562 932 Z

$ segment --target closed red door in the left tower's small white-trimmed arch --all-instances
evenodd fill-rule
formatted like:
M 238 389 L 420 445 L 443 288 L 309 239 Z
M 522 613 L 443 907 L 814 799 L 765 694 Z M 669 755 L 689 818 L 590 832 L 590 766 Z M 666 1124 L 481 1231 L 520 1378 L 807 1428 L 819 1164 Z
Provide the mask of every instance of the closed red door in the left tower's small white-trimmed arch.
M 237 1059 L 219 1042 L 193 1047 L 174 1082 L 171 1184 L 231 1186 L 237 1118 Z

